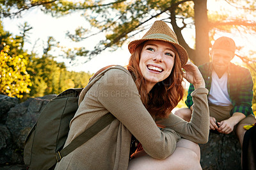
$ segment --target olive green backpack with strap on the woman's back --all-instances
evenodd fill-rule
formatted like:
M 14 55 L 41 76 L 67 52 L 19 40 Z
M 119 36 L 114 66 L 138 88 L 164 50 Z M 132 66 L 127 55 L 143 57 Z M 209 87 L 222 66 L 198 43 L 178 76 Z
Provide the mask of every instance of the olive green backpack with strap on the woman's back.
M 104 69 L 106 68 L 102 68 L 102 70 Z M 95 73 L 93 77 L 98 73 Z M 24 163 L 28 169 L 54 169 L 61 158 L 81 146 L 115 120 L 115 116 L 111 113 L 105 114 L 92 127 L 86 129 L 63 148 L 67 139 L 70 120 L 78 108 L 78 97 L 82 89 L 67 89 L 50 100 L 45 106 L 25 141 Z

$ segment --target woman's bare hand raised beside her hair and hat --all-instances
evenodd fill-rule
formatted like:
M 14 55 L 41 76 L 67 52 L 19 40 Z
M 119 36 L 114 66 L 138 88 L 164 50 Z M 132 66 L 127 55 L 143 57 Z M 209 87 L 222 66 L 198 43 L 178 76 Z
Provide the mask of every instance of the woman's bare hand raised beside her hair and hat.
M 186 72 L 183 73 L 183 77 L 194 85 L 195 89 L 205 88 L 205 82 L 202 74 L 198 70 L 197 66 L 188 61 L 185 66 L 183 66 Z

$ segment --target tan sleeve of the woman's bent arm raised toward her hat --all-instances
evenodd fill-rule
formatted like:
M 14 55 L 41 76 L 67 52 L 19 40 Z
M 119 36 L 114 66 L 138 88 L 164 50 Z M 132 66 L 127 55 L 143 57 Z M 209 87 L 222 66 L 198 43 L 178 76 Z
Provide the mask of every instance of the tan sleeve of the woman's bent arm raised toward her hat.
M 209 135 L 209 106 L 207 102 L 208 89 L 198 88 L 191 93 L 193 114 L 190 122 L 184 121 L 175 114 L 166 119 L 159 119 L 157 124 L 175 130 L 181 137 L 195 143 L 207 143 Z

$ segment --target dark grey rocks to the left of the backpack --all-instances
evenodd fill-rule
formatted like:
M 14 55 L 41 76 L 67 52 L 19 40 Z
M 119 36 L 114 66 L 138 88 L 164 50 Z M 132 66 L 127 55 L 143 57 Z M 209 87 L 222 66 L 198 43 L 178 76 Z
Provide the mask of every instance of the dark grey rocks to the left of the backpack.
M 22 164 L 23 149 L 29 130 L 45 105 L 56 95 L 29 98 L 18 104 L 17 98 L 0 95 L 0 165 Z M 4 120 L 3 120 L 4 119 Z M 1 168 L 0 168 L 1 169 Z

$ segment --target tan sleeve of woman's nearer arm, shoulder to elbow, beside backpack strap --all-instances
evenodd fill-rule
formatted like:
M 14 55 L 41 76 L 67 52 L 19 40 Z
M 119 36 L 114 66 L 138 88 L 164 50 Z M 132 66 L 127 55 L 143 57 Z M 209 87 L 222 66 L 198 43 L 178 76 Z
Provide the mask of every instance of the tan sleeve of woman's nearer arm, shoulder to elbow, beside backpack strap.
M 159 130 L 156 122 L 141 102 L 131 74 L 111 69 L 102 76 L 97 87 L 102 107 L 108 109 L 140 141 L 153 158 L 170 156 L 180 139 L 171 128 Z

